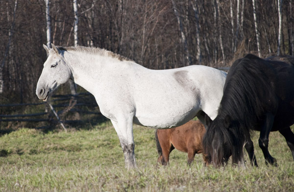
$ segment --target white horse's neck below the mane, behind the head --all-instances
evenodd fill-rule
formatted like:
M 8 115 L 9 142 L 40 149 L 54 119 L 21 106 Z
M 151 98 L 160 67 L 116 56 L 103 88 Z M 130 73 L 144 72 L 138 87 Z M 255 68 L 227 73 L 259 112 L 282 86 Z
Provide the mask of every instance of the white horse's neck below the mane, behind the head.
M 124 70 L 132 66 L 132 69 L 146 69 L 132 61 L 120 60 L 119 58 L 85 53 L 80 51 L 65 51 L 64 58 L 72 71 L 72 77 L 76 84 L 95 95 L 98 90 L 103 89 L 101 84 L 107 82 L 108 78 L 114 78 L 117 75 L 124 75 Z M 100 88 L 100 89 L 99 89 Z

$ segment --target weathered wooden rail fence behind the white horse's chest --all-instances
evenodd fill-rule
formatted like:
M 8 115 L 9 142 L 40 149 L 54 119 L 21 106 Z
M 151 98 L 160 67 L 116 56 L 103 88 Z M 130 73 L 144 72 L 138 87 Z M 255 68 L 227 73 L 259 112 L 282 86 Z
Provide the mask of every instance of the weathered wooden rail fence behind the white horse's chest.
M 82 123 L 83 120 L 63 120 L 60 116 L 64 116 L 68 113 L 75 113 L 77 116 L 81 114 L 94 114 L 97 118 L 102 118 L 99 111 L 98 105 L 94 96 L 90 93 L 80 93 L 76 95 L 54 95 L 51 96 L 49 102 L 40 103 L 22 103 L 22 104 L 2 104 L 0 105 L 0 111 L 20 111 L 20 108 L 27 108 L 28 106 L 36 106 L 44 109 L 44 112 L 39 113 L 24 113 L 24 114 L 3 114 L 0 113 L 0 123 L 1 122 L 48 122 L 46 126 L 32 127 L 37 129 L 48 128 L 60 124 L 65 130 L 66 127 L 64 123 Z M 7 110 L 9 108 L 9 110 Z M 11 109 L 13 108 L 13 109 Z

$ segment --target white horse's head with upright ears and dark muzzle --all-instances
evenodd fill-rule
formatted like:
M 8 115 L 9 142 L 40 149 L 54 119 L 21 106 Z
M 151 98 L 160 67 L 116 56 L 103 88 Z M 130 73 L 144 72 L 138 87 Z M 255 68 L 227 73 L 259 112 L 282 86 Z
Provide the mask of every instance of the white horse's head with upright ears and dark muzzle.
M 72 72 L 66 64 L 63 53 L 60 49 L 56 48 L 53 44 L 52 48 L 43 45 L 49 55 L 42 74 L 37 83 L 36 95 L 39 99 L 47 100 L 49 94 L 55 90 L 59 85 L 66 83 Z

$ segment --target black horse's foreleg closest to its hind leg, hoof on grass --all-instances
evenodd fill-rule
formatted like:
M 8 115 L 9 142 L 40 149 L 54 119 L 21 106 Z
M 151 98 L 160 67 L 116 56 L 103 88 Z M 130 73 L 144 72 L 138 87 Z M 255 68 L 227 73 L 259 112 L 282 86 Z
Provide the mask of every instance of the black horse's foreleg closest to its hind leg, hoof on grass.
M 274 120 L 274 116 L 272 114 L 266 115 L 264 125 L 262 126 L 262 128 L 260 130 L 258 144 L 259 144 L 259 147 L 261 148 L 261 150 L 265 156 L 266 165 L 268 165 L 270 163 L 270 165 L 277 166 L 276 159 L 270 155 L 270 152 L 268 149 L 269 135 L 270 135 L 270 130 L 272 127 L 273 120 Z

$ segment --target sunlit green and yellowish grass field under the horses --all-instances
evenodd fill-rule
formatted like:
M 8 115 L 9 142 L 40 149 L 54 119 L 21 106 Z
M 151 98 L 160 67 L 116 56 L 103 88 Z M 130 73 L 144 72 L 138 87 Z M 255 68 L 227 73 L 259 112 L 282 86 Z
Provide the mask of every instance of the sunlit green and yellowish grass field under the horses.
M 169 167 L 157 167 L 154 130 L 134 125 L 134 137 L 138 168 L 126 170 L 123 151 L 109 122 L 67 133 L 23 128 L 3 135 L 0 191 L 294 191 L 294 161 L 277 132 L 270 134 L 269 149 L 278 167 L 265 166 L 258 133 L 254 135 L 259 168 L 205 168 L 201 155 L 188 167 L 187 154 L 179 151 L 172 152 Z

